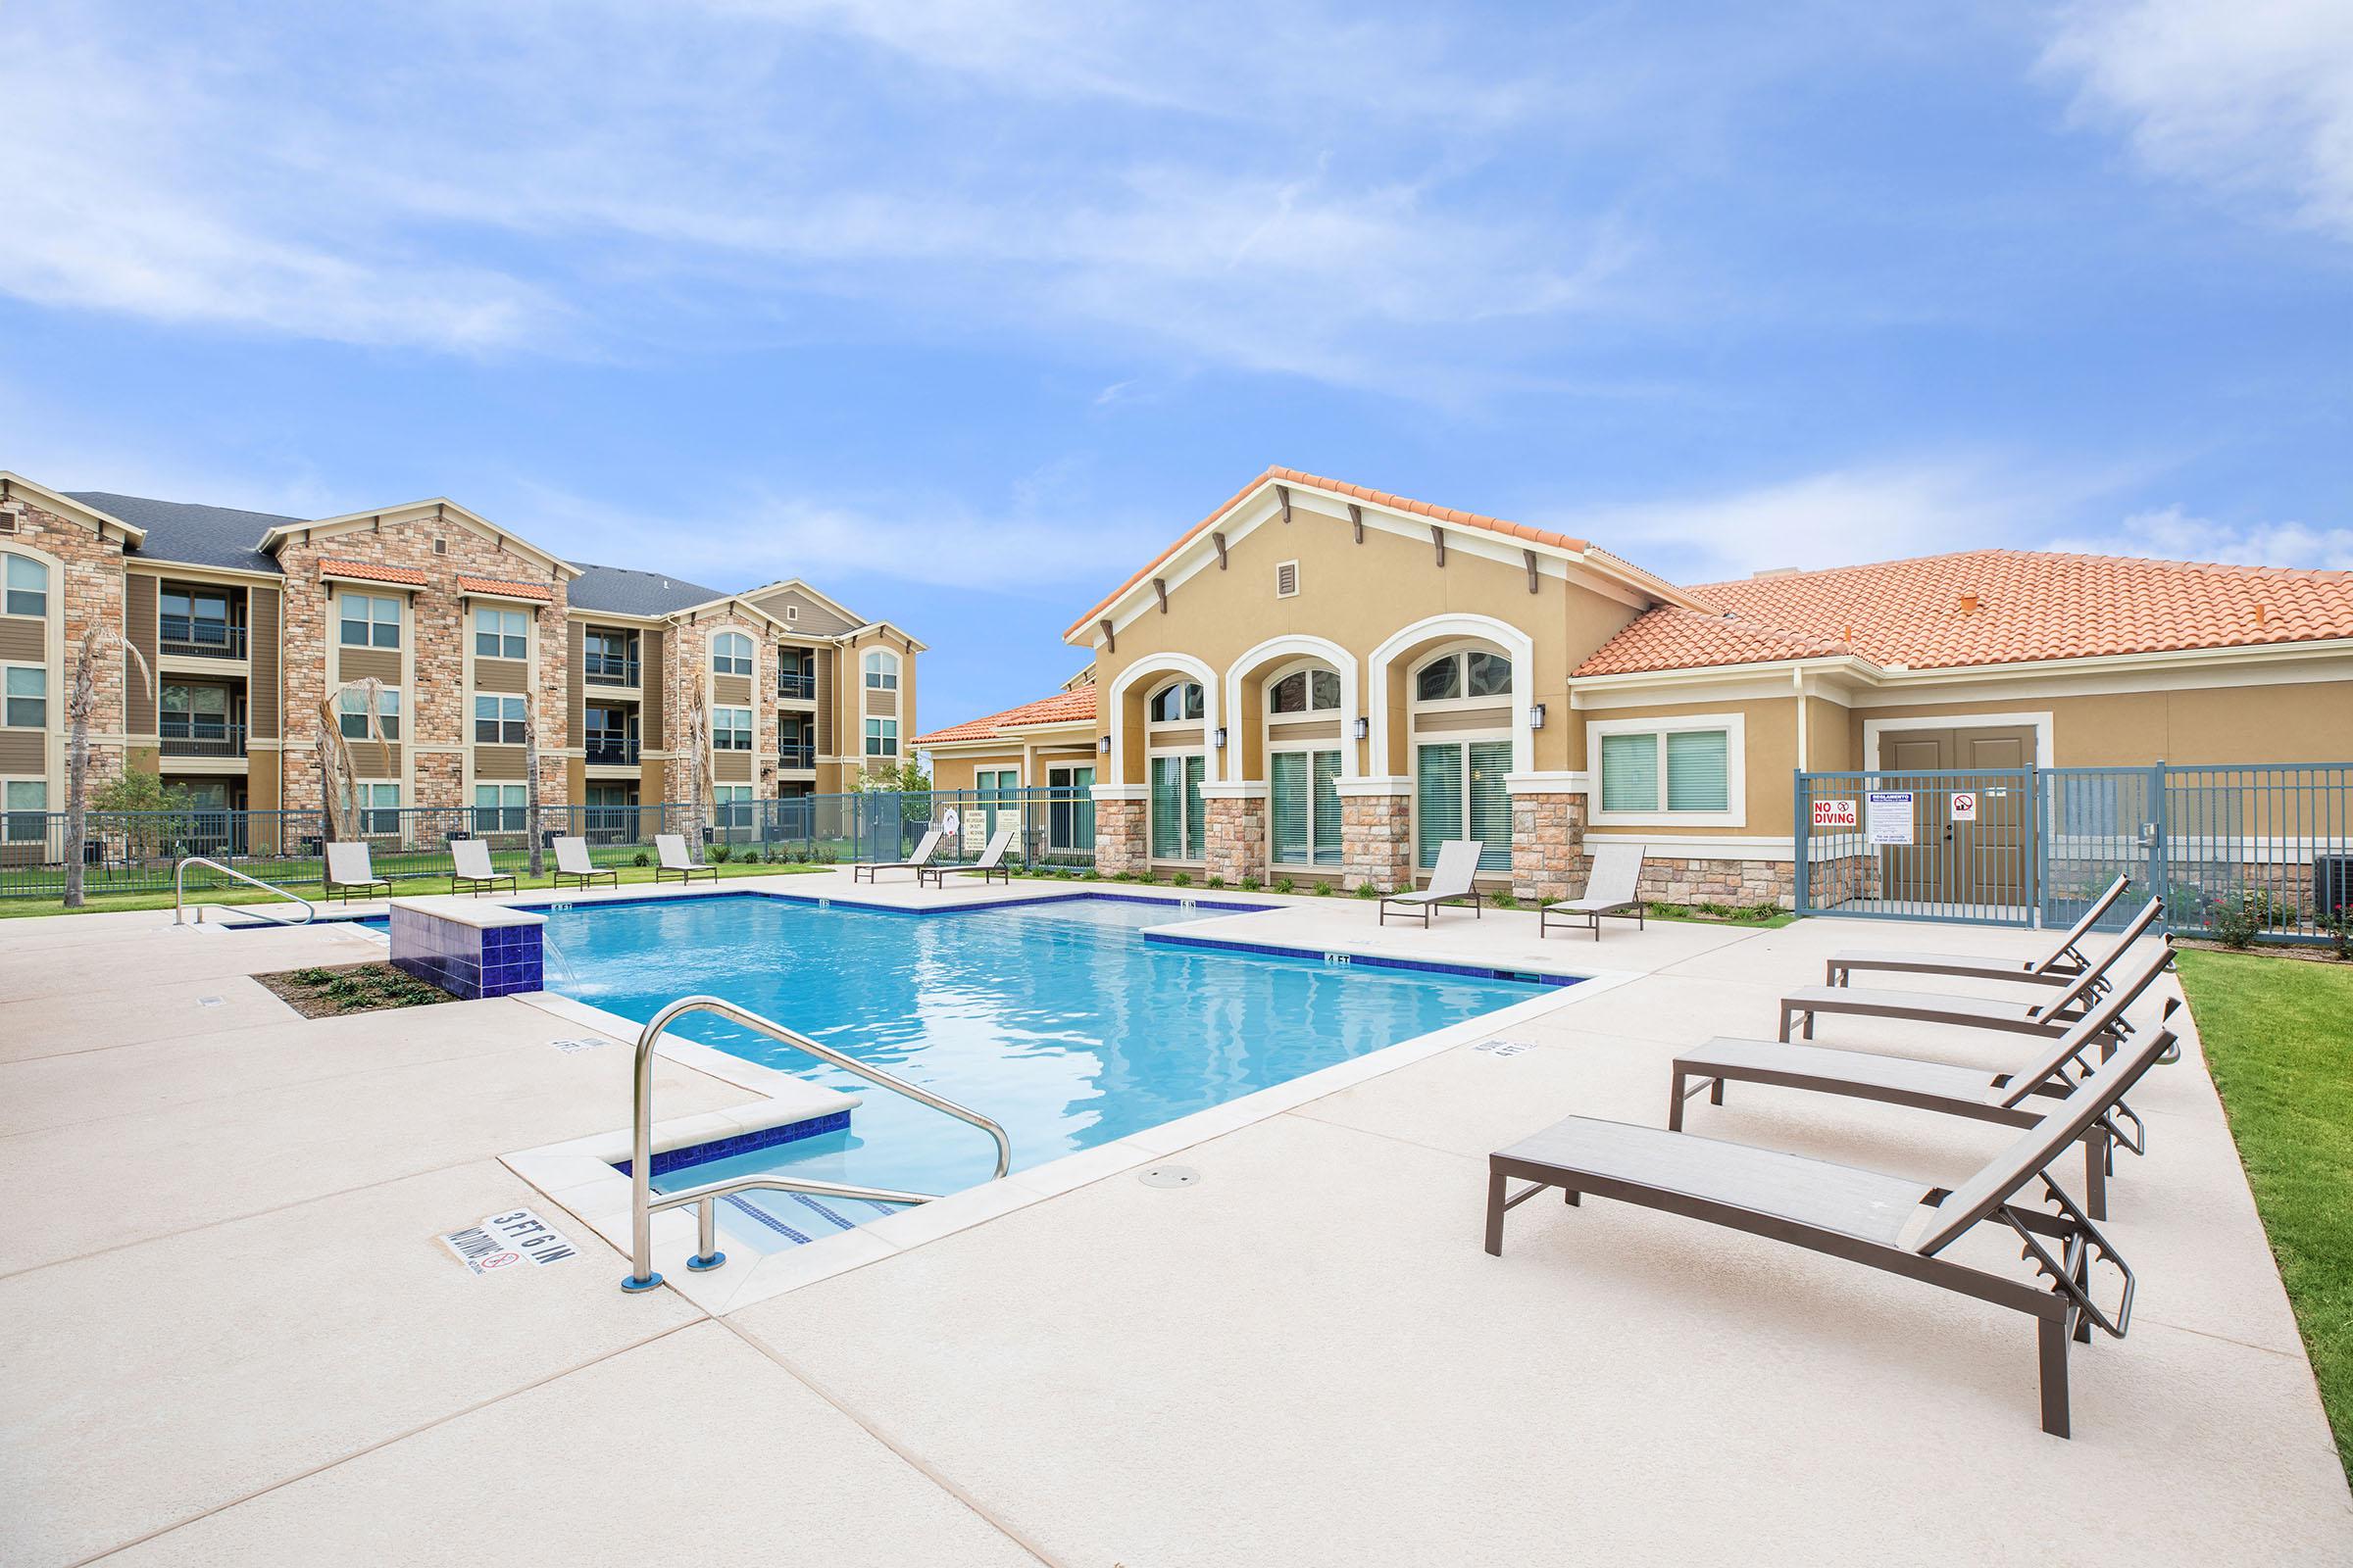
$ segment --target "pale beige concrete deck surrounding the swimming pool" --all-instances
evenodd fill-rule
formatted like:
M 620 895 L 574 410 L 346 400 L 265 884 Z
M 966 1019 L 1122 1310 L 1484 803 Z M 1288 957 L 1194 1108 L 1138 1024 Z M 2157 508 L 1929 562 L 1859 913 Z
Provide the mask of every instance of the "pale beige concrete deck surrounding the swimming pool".
M 1047 891 L 1066 889 L 1012 896 Z M 1282 907 L 1193 931 L 1628 978 L 1205 1119 L 1169 1154 L 1193 1187 L 1099 1161 L 711 1312 L 624 1295 L 621 1253 L 501 1164 L 626 1121 L 626 1046 L 558 1051 L 586 1034 L 562 1009 L 306 1023 L 249 976 L 379 943 L 0 922 L 0 1561 L 2353 1559 L 2195 1039 L 2134 1095 L 2151 1154 L 2122 1164 L 2108 1232 L 2141 1298 L 2127 1340 L 2078 1349 L 2073 1441 L 2035 1427 L 2014 1314 L 1600 1201 L 1522 1206 L 1504 1258 L 1480 1251 L 1487 1150 L 1569 1112 L 1659 1124 L 1675 1046 L 1769 1034 L 1828 950 L 2014 954 L 2035 933 L 1539 943 L 1532 914 L 1489 912 L 1424 938 L 1369 903 L 1228 898 Z M 1929 1025 L 1821 1037 L 2000 1056 Z M 664 1117 L 760 1100 L 682 1060 L 656 1093 Z M 1765 1088 L 1694 1105 L 1692 1128 L 1941 1182 L 2007 1143 Z M 438 1241 L 518 1206 L 581 1255 L 475 1276 Z

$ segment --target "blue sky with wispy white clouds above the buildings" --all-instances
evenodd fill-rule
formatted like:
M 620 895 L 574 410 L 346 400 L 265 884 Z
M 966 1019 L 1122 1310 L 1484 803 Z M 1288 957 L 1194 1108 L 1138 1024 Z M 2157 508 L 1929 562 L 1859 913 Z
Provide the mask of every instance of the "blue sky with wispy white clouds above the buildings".
M 1268 463 L 2353 567 L 2353 7 L 9 0 L 0 468 L 802 574 L 925 726 Z

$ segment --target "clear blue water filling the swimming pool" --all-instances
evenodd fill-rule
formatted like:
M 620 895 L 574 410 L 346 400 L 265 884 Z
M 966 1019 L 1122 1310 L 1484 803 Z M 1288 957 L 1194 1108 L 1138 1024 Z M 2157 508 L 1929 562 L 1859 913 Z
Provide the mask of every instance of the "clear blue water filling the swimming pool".
M 692 992 L 725 997 L 998 1119 L 1021 1171 L 1558 985 L 1144 938 L 1228 912 L 1099 896 L 922 914 L 760 896 L 551 910 L 548 987 L 638 1023 Z M 845 1133 L 671 1171 L 661 1190 L 784 1171 L 955 1192 L 991 1175 L 979 1128 L 722 1018 L 673 1032 L 861 1105 Z M 765 1248 L 875 1213 L 779 1192 L 722 1204 L 729 1234 Z

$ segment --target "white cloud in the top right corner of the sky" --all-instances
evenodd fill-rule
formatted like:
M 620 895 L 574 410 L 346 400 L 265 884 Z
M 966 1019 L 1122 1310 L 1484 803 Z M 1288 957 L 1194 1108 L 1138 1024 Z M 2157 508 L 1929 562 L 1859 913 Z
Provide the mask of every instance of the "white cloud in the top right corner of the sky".
M 2285 200 L 2353 240 L 2346 0 L 2085 0 L 2059 12 L 2042 59 L 2151 169 Z

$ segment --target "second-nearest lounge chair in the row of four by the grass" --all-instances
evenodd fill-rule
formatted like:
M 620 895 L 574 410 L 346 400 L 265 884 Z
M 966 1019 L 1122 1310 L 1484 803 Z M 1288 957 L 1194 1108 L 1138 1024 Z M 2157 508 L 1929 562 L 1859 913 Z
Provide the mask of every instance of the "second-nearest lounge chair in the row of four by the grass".
M 2113 1023 L 2172 969 L 2172 945 L 2148 947 L 2115 971 L 2115 990 L 2099 999 L 2075 1027 L 2052 1041 L 2033 1060 L 2009 1072 L 1955 1067 L 1915 1056 L 1880 1056 L 1871 1051 L 1835 1051 L 1772 1039 L 1711 1039 L 1675 1058 L 1675 1084 L 1666 1105 L 1666 1128 L 1682 1131 L 1682 1105 L 1701 1088 L 1711 1105 L 1725 1103 L 1725 1084 L 1774 1084 L 1817 1093 L 1911 1105 L 1972 1121 L 2033 1126 L 2049 1100 L 2075 1093 L 2092 1070 L 2089 1051 L 2108 1056 L 2115 1048 Z M 2167 1001 L 2165 1013 L 2179 1001 Z M 1697 1081 L 1694 1081 L 1697 1079 Z M 1689 1086 L 1687 1086 L 1689 1084 Z M 2115 1117 L 2132 1124 L 2118 1126 Z M 2108 1218 L 2108 1175 L 2115 1168 L 2115 1145 L 2134 1154 L 2148 1147 L 2148 1128 L 2122 1100 L 2115 1112 L 2089 1126 L 2082 1143 L 2082 1206 L 2094 1220 Z

